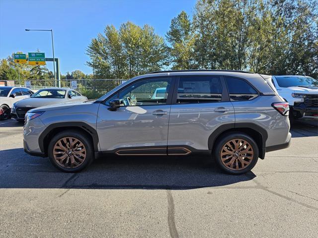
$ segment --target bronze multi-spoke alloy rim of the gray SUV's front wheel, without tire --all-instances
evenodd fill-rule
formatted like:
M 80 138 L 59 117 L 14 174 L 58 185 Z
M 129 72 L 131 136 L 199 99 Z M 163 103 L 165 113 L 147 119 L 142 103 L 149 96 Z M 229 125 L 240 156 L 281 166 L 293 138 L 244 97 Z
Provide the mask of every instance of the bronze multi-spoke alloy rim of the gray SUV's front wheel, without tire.
M 79 139 L 63 137 L 55 143 L 53 157 L 58 165 L 67 169 L 74 169 L 85 161 L 86 148 Z

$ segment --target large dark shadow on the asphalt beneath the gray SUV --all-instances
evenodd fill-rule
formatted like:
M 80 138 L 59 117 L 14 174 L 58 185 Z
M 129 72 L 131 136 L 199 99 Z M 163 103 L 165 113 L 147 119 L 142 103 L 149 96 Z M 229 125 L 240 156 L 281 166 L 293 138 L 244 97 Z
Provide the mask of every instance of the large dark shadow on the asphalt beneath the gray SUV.
M 0 151 L 0 188 L 193 189 L 247 181 L 256 176 L 222 173 L 210 156 L 119 157 L 96 159 L 76 173 L 60 172 L 48 158 L 22 148 Z

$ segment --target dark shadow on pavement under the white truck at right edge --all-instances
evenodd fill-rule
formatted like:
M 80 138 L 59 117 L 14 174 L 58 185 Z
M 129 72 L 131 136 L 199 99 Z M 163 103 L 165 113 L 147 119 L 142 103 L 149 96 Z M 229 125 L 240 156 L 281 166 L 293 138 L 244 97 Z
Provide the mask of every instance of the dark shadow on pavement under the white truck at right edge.
M 318 120 L 295 120 L 290 127 L 290 132 L 293 138 L 318 136 Z

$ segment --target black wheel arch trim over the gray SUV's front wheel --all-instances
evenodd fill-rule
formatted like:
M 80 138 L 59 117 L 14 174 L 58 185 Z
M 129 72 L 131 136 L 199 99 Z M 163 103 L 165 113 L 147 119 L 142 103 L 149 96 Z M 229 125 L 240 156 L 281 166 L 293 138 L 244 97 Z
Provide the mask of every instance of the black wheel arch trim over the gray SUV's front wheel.
M 44 148 L 44 140 L 45 137 L 53 130 L 59 127 L 78 127 L 80 129 L 83 129 L 85 132 L 87 132 L 89 135 L 91 135 L 93 139 L 93 146 L 94 146 L 94 151 L 98 151 L 98 134 L 96 129 L 91 127 L 85 122 L 82 121 L 67 121 L 67 122 L 57 122 L 50 124 L 46 129 L 41 133 L 39 136 L 39 147 L 43 153 L 46 153 L 45 148 Z

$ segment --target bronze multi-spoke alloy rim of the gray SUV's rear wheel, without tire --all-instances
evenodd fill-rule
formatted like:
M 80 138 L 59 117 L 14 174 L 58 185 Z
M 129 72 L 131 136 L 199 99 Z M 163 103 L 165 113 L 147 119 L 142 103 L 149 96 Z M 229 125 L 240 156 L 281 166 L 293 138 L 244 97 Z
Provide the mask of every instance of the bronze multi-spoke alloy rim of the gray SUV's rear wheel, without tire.
M 221 161 L 230 170 L 243 170 L 253 160 L 252 146 L 243 139 L 233 139 L 226 142 L 221 150 Z

